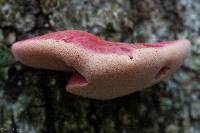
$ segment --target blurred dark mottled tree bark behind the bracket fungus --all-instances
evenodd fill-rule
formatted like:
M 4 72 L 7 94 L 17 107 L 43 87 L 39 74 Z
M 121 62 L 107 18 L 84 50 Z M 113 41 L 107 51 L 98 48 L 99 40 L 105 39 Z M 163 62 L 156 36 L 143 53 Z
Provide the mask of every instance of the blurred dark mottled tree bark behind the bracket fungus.
M 11 54 L 15 41 L 65 29 L 122 42 L 186 38 L 192 49 L 169 79 L 102 102 L 67 93 L 70 73 Z M 199 133 L 199 57 L 199 0 L 0 0 L 0 132 Z

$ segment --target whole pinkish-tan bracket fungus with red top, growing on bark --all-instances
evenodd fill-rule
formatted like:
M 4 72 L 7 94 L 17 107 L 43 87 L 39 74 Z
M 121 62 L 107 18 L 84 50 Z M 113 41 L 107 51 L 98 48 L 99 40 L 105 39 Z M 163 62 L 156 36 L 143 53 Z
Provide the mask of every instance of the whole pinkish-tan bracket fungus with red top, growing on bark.
M 12 45 L 23 64 L 73 72 L 68 92 L 112 99 L 149 87 L 174 73 L 190 50 L 188 40 L 128 44 L 79 30 L 48 33 Z

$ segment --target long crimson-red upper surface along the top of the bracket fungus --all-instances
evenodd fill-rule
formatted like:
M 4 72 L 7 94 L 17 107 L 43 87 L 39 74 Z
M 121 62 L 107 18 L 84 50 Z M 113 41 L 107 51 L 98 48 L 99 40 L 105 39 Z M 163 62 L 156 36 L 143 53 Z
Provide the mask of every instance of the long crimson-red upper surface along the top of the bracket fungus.
M 116 53 L 116 54 L 126 54 L 131 56 L 132 51 L 138 48 L 148 48 L 148 47 L 163 47 L 166 43 L 156 43 L 156 44 L 140 44 L 140 45 L 130 45 L 129 43 L 120 42 L 110 42 L 105 41 L 101 38 L 96 37 L 88 32 L 79 30 L 66 30 L 53 32 L 33 39 L 53 39 L 62 40 L 66 43 L 73 43 L 75 45 L 81 46 L 85 49 L 92 50 L 94 52 L 100 53 Z M 169 42 L 167 43 L 169 44 Z

